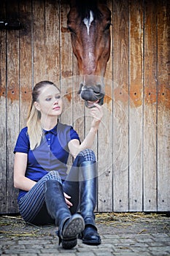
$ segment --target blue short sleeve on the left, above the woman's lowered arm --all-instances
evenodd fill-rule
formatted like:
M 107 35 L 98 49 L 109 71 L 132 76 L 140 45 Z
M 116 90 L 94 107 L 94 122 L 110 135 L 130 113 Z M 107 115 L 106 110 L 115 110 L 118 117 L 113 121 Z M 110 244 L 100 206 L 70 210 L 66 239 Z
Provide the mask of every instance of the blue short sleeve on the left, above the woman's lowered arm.
M 28 151 L 30 149 L 30 143 L 28 138 L 28 129 L 27 127 L 21 129 L 17 142 L 15 144 L 14 153 L 21 152 L 28 154 Z

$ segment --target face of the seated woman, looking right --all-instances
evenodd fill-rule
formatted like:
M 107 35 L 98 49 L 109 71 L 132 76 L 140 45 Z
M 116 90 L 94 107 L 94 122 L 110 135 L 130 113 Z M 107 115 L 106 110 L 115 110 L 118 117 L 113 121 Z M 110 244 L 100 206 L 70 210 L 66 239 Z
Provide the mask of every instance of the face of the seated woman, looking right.
M 37 110 L 43 116 L 60 116 L 63 110 L 63 101 L 58 89 L 53 85 L 42 88 L 37 102 L 34 102 Z

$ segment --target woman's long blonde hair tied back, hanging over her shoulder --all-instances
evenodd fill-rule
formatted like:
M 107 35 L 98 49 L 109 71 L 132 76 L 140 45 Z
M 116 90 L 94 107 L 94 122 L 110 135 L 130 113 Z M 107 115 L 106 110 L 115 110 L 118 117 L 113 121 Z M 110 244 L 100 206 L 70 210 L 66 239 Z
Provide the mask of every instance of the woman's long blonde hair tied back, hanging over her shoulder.
M 39 110 L 36 109 L 34 102 L 38 102 L 39 95 L 41 94 L 41 89 L 49 85 L 55 86 L 55 83 L 52 83 L 48 80 L 43 80 L 39 83 L 36 83 L 32 91 L 32 102 L 31 102 L 31 107 L 28 111 L 28 120 L 27 120 L 28 136 L 30 140 L 31 150 L 34 150 L 40 145 L 42 138 L 44 136 L 44 132 L 41 127 L 41 113 Z M 55 87 L 58 89 L 57 86 Z M 58 89 L 58 91 L 60 90 Z

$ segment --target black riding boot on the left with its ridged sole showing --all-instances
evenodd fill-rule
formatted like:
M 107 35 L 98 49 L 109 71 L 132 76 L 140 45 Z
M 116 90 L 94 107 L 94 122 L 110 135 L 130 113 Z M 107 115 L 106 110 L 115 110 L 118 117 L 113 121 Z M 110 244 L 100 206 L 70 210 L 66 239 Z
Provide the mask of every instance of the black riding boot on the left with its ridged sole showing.
M 72 215 L 63 196 L 63 187 L 58 181 L 45 183 L 45 203 L 50 216 L 58 225 L 59 244 L 64 249 L 77 245 L 77 235 L 84 230 L 85 223 L 80 214 Z

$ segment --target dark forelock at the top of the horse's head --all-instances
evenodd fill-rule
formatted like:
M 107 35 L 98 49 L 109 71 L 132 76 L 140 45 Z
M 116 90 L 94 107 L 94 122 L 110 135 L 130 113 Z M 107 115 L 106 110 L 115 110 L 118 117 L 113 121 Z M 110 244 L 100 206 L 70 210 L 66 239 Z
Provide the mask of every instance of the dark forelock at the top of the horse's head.
M 101 12 L 98 10 L 97 0 L 86 0 L 86 1 L 76 0 L 76 7 L 80 15 L 80 18 L 82 19 L 90 18 L 89 10 L 93 12 L 94 18 L 100 19 L 102 16 Z

